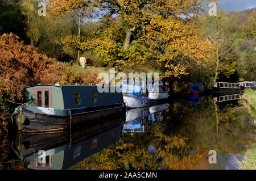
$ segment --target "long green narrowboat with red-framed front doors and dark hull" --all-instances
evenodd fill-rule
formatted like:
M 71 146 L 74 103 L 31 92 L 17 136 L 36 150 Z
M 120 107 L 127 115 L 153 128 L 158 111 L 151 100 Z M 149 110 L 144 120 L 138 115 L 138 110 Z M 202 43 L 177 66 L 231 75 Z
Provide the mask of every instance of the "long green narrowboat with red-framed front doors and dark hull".
M 105 92 L 99 92 L 97 86 L 59 83 L 24 87 L 26 104 L 15 109 L 12 119 L 19 131 L 42 133 L 118 116 L 125 114 L 122 92 L 118 89 L 104 87 Z

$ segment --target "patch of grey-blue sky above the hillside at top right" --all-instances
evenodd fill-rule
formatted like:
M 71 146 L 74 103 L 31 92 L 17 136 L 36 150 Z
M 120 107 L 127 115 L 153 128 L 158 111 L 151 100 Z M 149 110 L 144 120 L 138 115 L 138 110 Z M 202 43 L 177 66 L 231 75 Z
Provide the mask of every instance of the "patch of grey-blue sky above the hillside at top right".
M 220 0 L 219 8 L 225 11 L 242 11 L 253 7 L 256 7 L 256 0 Z

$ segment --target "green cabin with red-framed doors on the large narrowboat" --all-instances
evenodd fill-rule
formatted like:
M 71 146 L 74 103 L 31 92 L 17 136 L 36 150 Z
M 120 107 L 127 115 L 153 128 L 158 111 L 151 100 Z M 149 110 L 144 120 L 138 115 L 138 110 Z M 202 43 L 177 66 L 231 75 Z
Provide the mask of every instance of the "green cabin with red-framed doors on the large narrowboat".
M 112 87 L 113 88 L 113 87 Z M 105 87 L 106 89 L 106 87 Z M 98 92 L 97 86 L 38 85 L 24 87 L 24 102 L 29 106 L 60 110 L 104 106 L 123 102 L 119 87 L 115 92 Z

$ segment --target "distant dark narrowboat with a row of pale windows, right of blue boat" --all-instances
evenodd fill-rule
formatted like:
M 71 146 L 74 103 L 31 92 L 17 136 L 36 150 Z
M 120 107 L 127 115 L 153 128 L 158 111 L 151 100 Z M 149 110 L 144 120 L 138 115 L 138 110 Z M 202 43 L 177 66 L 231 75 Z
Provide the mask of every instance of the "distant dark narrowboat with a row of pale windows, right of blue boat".
M 212 93 L 224 93 L 224 92 L 240 92 L 240 83 L 231 82 L 216 82 L 214 83 L 213 89 L 210 91 Z

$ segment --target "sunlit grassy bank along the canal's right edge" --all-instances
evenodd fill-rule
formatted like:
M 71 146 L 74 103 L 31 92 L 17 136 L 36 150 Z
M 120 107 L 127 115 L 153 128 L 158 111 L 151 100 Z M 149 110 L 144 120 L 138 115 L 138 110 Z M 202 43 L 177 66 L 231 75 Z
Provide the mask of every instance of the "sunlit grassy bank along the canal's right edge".
M 243 94 L 245 107 L 249 110 L 250 115 L 256 120 L 256 91 L 245 90 Z M 250 145 L 250 149 L 245 152 L 245 159 L 240 162 L 242 170 L 256 170 L 256 137 Z

